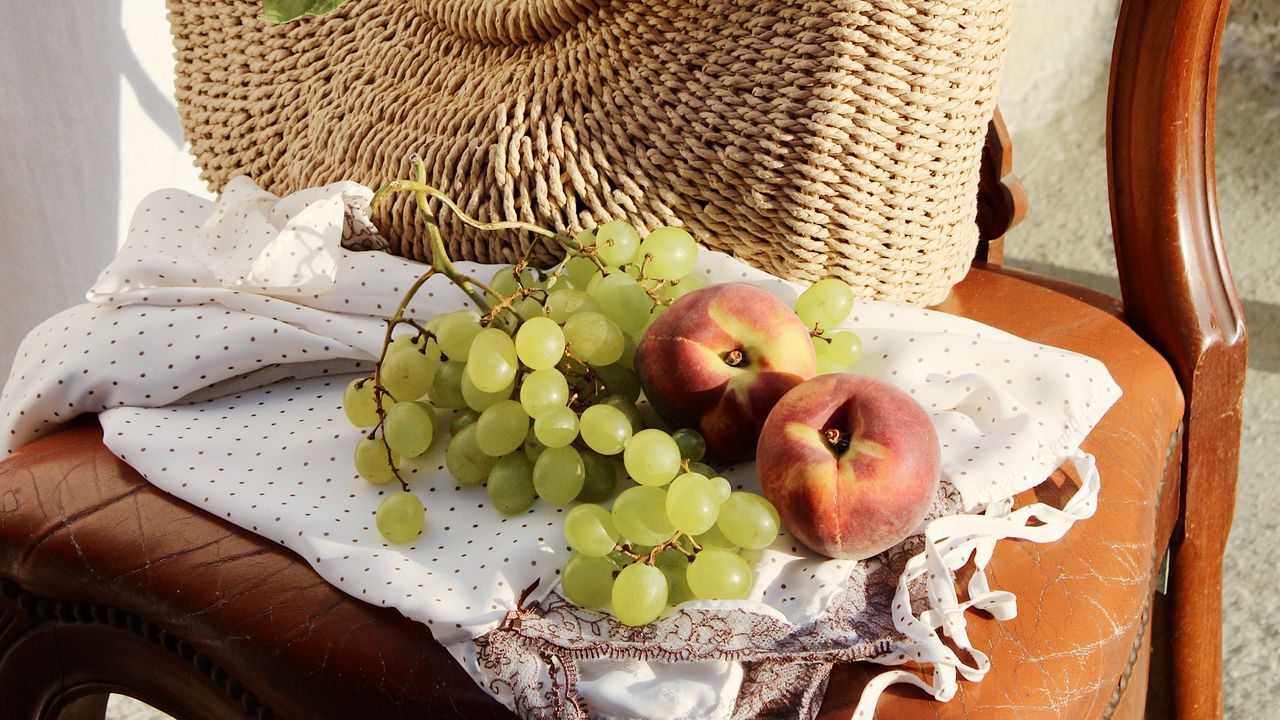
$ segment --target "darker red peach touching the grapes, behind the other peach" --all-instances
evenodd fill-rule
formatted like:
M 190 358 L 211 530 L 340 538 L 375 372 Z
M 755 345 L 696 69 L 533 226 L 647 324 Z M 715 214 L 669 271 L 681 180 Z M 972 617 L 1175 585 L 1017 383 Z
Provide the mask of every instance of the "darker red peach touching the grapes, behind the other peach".
M 736 366 L 733 351 L 741 352 Z M 696 428 L 708 452 L 726 461 L 754 455 L 773 405 L 815 366 L 809 331 L 791 307 L 742 283 L 675 301 L 636 347 L 654 410 L 672 428 Z

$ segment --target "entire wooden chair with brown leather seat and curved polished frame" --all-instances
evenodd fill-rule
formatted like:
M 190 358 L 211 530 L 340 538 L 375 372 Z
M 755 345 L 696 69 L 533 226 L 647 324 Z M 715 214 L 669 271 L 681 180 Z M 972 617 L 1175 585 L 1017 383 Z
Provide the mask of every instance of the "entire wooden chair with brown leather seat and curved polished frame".
M 987 243 L 940 309 L 1094 355 L 1125 395 L 1084 446 L 1102 473 L 1097 515 L 1057 543 L 998 546 L 991 574 L 1020 615 L 972 619 L 991 675 L 950 703 L 895 689 L 881 717 L 1222 714 L 1245 368 L 1213 191 L 1225 15 L 1225 0 L 1124 3 L 1107 113 L 1123 305 L 1000 265 L 1025 204 L 992 124 Z M 0 465 L 0 716 L 101 717 L 109 692 L 184 719 L 507 716 L 425 625 L 152 488 L 100 438 L 81 420 Z M 1060 471 L 1027 497 L 1056 502 L 1071 483 Z M 837 669 L 822 715 L 847 716 L 876 670 Z

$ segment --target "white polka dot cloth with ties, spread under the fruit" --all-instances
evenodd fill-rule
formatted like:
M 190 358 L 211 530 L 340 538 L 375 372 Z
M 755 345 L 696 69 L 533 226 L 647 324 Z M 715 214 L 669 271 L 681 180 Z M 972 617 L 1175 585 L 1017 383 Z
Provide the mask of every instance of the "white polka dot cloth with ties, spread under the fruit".
M 352 596 L 426 623 L 483 680 L 471 641 L 497 626 L 534 580 L 541 580 L 536 598 L 556 587 L 567 559 L 563 510 L 540 503 L 503 518 L 483 489 L 452 482 L 438 438 L 411 468 L 428 507 L 425 533 L 407 547 L 378 536 L 372 514 L 384 491 L 352 469 L 361 432 L 342 414 L 342 389 L 351 373 L 369 370 L 383 319 L 425 268 L 340 247 L 344 209 L 369 197 L 358 184 L 335 183 L 280 200 L 243 178 L 218 204 L 180 191 L 151 195 L 88 302 L 45 322 L 19 348 L 0 396 L 0 433 L 12 452 L 76 415 L 101 413 L 108 447 L 148 482 L 289 547 Z M 458 265 L 483 278 L 494 272 Z M 750 282 L 788 302 L 800 290 L 708 251 L 695 272 Z M 433 278 L 411 310 L 428 318 L 466 305 L 447 279 Z M 987 671 L 986 656 L 965 638 L 963 610 L 1007 618 L 1014 598 L 988 588 L 980 566 L 1001 538 L 1048 542 L 1092 514 L 1098 478 L 1078 447 L 1119 388 L 1096 360 L 946 314 L 864 302 L 847 327 L 864 342 L 860 370 L 929 410 L 945 479 L 966 511 L 925 528 L 925 552 L 899 583 L 908 602 L 892 619 L 909 642 L 882 659 L 896 664 L 906 648 L 934 671 L 928 682 L 881 675 L 859 706 L 869 716 L 888 684 L 918 684 L 947 700 L 957 673 L 977 680 Z M 1068 506 L 1011 509 L 1009 498 L 1069 460 L 1082 488 Z M 727 475 L 758 487 L 750 464 Z M 970 559 L 979 571 L 959 602 L 950 571 Z M 749 601 L 695 605 L 803 625 L 822 616 L 851 564 L 817 559 L 783 536 L 756 566 Z M 923 610 L 913 609 L 908 587 L 920 579 Z M 742 682 L 737 662 L 640 667 L 582 662 L 588 707 L 612 708 L 598 711 L 608 716 L 728 716 Z M 678 711 L 673 697 L 684 698 Z

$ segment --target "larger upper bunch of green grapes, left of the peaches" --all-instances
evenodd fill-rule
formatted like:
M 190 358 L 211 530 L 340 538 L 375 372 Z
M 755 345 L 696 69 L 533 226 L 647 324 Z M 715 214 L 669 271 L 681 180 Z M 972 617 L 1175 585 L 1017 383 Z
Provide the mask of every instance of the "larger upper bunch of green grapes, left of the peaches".
M 566 249 L 567 259 L 548 272 L 518 263 L 488 284 L 463 278 L 483 288 L 480 310 L 422 325 L 398 313 L 392 325 L 415 332 L 389 332 L 374 374 L 347 387 L 347 418 L 369 430 L 356 446 L 357 473 L 401 483 L 375 515 L 388 542 L 411 542 L 422 530 L 422 503 L 401 468 L 440 434 L 436 409 L 454 411 L 449 474 L 461 486 L 484 486 L 507 515 L 539 500 L 566 506 L 613 496 L 620 454 L 646 428 L 636 405 L 636 342 L 673 300 L 705 283 L 687 277 L 698 247 L 681 228 L 641 238 L 613 220 Z

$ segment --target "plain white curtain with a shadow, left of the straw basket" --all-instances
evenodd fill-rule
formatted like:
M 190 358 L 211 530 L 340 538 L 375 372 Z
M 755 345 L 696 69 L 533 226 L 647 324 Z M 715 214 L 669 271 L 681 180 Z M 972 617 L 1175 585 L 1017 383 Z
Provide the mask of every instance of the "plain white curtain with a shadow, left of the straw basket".
M 82 301 L 147 192 L 207 195 L 173 101 L 163 0 L 0 0 L 0 379 Z

